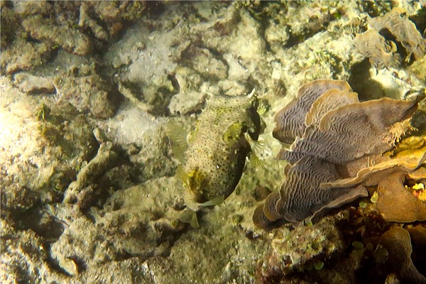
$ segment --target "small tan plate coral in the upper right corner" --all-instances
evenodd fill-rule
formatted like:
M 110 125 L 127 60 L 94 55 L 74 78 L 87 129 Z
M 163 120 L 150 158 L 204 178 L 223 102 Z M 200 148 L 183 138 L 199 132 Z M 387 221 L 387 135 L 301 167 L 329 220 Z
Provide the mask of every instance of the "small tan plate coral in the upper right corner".
M 366 32 L 356 35 L 356 49 L 378 69 L 398 67 L 401 61 L 398 49 L 405 50 L 405 62 L 409 62 L 412 55 L 420 60 L 426 53 L 426 39 L 403 8 L 395 7 L 383 16 L 368 18 L 368 26 Z M 392 40 L 384 36 L 388 34 Z M 398 48 L 398 44 L 402 48 Z

